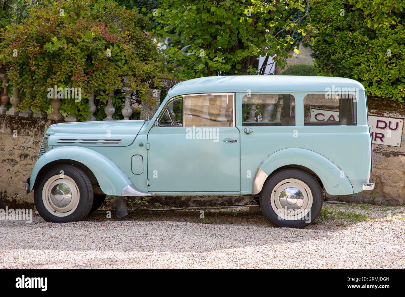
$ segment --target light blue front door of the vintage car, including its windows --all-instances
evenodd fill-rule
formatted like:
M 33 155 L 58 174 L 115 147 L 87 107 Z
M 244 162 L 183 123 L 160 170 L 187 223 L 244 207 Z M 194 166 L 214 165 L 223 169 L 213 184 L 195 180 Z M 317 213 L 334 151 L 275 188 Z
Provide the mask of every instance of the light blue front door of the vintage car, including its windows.
M 149 192 L 239 192 L 234 94 L 170 99 L 148 133 Z

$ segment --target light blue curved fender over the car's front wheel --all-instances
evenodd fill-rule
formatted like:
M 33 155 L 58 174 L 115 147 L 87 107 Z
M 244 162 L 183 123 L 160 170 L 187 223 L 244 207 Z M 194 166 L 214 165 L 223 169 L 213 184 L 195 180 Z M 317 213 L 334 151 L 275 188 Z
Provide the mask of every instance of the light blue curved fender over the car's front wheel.
M 80 162 L 90 169 L 104 194 L 121 196 L 124 189 L 132 185 L 125 173 L 106 156 L 86 147 L 64 146 L 53 148 L 38 159 L 30 177 L 30 191 L 34 188 L 38 173 L 44 166 L 53 161 L 66 159 Z

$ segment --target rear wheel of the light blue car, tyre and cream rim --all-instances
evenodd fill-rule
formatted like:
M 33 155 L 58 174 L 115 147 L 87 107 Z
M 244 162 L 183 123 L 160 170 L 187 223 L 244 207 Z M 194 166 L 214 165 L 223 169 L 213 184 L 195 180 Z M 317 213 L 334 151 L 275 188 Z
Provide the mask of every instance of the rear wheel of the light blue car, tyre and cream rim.
M 260 208 L 279 227 L 305 227 L 318 217 L 322 208 L 319 183 L 300 169 L 279 171 L 264 185 Z

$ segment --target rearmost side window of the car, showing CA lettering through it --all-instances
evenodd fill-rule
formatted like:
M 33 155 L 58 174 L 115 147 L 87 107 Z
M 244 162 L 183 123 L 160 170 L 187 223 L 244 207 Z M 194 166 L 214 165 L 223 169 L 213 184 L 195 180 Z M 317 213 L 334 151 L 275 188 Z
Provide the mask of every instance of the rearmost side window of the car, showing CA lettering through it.
M 356 125 L 356 103 L 352 94 L 308 94 L 304 97 L 304 125 Z

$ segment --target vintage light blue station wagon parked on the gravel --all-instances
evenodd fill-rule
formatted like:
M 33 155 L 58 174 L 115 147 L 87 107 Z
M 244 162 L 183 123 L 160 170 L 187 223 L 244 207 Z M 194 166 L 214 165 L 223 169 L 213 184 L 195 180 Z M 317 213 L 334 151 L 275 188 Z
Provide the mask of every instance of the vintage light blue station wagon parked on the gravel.
M 216 76 L 173 86 L 150 120 L 50 126 L 26 187 L 51 222 L 82 220 L 106 195 L 251 195 L 275 225 L 304 227 L 322 188 L 372 190 L 371 169 L 359 82 Z

